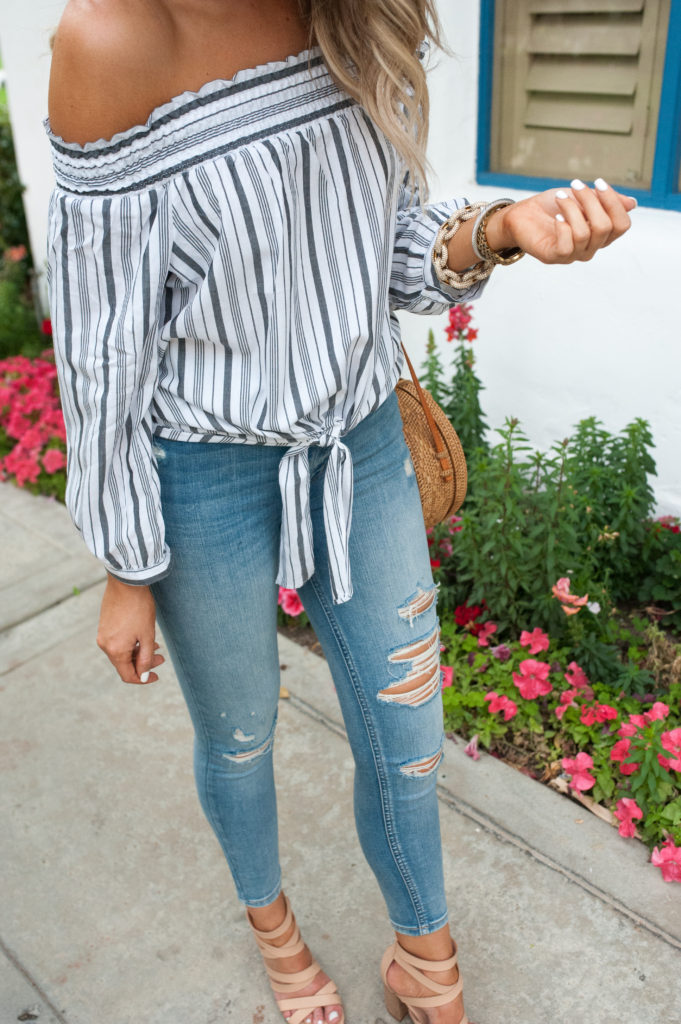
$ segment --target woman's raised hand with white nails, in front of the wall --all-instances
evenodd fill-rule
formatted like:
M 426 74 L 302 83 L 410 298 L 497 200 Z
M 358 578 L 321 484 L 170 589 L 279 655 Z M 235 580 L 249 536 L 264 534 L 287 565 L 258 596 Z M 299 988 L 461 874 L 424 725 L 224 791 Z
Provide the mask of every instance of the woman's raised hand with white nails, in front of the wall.
M 636 205 L 602 178 L 594 188 L 574 179 L 569 188 L 549 188 L 493 214 L 487 242 L 496 251 L 519 246 L 542 263 L 586 261 L 629 229 Z

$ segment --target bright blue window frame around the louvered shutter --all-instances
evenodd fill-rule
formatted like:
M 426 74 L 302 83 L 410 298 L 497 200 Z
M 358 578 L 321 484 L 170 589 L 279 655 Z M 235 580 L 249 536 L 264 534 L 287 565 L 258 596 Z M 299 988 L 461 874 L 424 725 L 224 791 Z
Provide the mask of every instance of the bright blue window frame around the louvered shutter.
M 495 2 L 480 0 L 480 74 L 477 113 L 477 173 L 480 184 L 531 191 L 564 185 L 562 178 L 534 177 L 490 170 L 492 88 L 495 51 Z M 627 189 L 641 206 L 681 210 L 679 166 L 681 164 L 681 3 L 672 3 L 667 35 L 667 53 L 659 99 L 657 138 L 649 189 Z

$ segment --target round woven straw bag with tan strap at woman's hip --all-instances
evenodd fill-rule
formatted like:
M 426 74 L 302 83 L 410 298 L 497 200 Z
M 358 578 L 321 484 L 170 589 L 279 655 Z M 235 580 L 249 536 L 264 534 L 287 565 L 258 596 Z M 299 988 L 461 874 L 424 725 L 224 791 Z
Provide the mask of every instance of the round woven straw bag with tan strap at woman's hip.
M 405 440 L 416 472 L 426 528 L 461 508 L 466 497 L 466 457 L 456 430 L 432 395 L 419 384 L 411 359 L 405 358 L 412 380 L 395 387 Z

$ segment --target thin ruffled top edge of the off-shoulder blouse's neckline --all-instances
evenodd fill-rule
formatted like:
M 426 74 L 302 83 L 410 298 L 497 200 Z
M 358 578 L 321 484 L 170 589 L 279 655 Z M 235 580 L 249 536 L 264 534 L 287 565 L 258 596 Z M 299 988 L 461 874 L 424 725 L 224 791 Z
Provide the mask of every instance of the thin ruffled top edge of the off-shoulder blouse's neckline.
M 321 55 L 321 46 L 308 46 L 304 50 L 300 50 L 299 53 L 293 53 L 279 60 L 267 60 L 265 63 L 254 65 L 252 68 L 242 68 L 235 72 L 231 78 L 213 78 L 209 82 L 204 82 L 196 90 L 185 89 L 165 102 L 159 103 L 153 109 L 143 124 L 140 123 L 131 125 L 129 128 L 124 128 L 122 131 L 115 132 L 111 138 L 102 137 L 96 140 L 93 139 L 90 142 L 68 142 L 61 135 L 57 135 L 52 131 L 49 116 L 43 119 L 43 126 L 50 142 L 59 146 L 59 148 L 71 150 L 74 153 L 101 151 L 134 138 L 135 135 L 145 134 L 154 128 L 155 124 L 169 114 L 172 114 L 173 111 L 180 110 L 186 103 L 208 99 L 214 92 L 229 89 L 242 83 L 258 79 L 263 75 L 275 74 L 285 71 L 287 68 L 294 68 L 298 63 L 302 65 L 303 61 L 309 63 Z

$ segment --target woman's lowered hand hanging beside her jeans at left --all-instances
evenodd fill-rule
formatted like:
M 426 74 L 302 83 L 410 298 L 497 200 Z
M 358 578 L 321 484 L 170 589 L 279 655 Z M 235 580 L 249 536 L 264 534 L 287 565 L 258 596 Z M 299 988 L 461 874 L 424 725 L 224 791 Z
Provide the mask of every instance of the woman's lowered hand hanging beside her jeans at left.
M 113 575 L 101 599 L 97 646 L 124 683 L 153 683 L 152 669 L 165 662 L 157 653 L 156 605 L 148 587 L 133 587 Z

